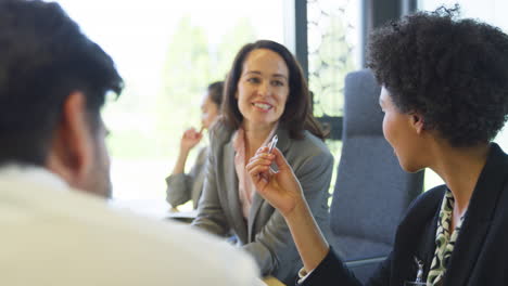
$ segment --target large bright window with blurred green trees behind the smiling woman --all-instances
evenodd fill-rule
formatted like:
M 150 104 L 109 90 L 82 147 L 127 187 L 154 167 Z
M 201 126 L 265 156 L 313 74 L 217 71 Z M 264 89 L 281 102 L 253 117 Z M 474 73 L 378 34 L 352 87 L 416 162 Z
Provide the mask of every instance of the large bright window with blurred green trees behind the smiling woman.
M 58 2 L 125 79 L 124 93 L 103 113 L 116 199 L 164 203 L 164 179 L 182 131 L 199 128 L 206 86 L 225 78 L 244 43 L 262 38 L 284 43 L 288 23 L 283 0 Z

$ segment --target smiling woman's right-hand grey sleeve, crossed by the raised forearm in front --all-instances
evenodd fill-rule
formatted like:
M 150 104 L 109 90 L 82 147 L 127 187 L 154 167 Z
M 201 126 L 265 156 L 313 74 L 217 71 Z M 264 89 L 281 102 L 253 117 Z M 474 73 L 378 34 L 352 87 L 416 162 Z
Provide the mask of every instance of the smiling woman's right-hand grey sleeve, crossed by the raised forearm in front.
M 326 202 L 329 196 L 333 156 L 329 152 L 321 151 L 305 160 L 293 171 L 302 185 L 313 214 L 319 213 L 316 220 L 322 224 L 323 220 L 328 222 Z M 244 245 L 243 248 L 253 255 L 263 275 L 288 265 L 294 268 L 295 260 L 300 261 L 289 226 L 277 210 L 255 235 L 254 242 Z

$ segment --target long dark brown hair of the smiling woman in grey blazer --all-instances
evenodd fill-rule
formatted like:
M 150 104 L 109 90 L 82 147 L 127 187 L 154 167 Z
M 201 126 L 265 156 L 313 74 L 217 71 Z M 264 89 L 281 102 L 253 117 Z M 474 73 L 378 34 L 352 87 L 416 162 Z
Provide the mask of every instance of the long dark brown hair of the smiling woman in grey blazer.
M 323 139 L 325 133 L 319 122 L 314 118 L 310 110 L 310 96 L 307 82 L 304 78 L 302 68 L 291 52 L 280 43 L 269 40 L 259 40 L 254 43 L 247 43 L 238 52 L 232 67 L 226 80 L 223 102 L 223 121 L 230 128 L 238 129 L 243 120 L 243 116 L 238 108 L 238 101 L 234 94 L 238 90 L 238 81 L 242 74 L 243 63 L 249 53 L 257 49 L 267 49 L 278 53 L 285 62 L 289 69 L 289 96 L 285 103 L 284 113 L 279 123 L 289 130 L 293 139 L 302 139 L 303 131 L 308 130 L 316 136 Z

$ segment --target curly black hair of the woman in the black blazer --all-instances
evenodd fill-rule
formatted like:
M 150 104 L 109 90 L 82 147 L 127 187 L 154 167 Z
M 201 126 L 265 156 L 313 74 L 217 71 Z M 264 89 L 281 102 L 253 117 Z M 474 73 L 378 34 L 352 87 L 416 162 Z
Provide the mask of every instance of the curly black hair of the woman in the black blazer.
M 508 36 L 458 10 L 419 12 L 374 30 L 368 66 L 402 113 L 454 146 L 492 141 L 508 114 Z

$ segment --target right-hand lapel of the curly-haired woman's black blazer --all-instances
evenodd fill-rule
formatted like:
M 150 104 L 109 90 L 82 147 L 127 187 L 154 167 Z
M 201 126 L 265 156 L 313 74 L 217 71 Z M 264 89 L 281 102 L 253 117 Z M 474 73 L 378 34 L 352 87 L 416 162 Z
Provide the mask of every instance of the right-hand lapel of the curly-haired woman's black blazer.
M 488 232 L 497 198 L 508 172 L 507 156 L 492 144 L 485 167 L 478 179 L 471 200 L 452 253 L 445 285 L 466 285 Z

